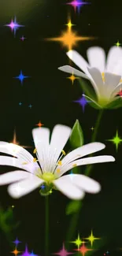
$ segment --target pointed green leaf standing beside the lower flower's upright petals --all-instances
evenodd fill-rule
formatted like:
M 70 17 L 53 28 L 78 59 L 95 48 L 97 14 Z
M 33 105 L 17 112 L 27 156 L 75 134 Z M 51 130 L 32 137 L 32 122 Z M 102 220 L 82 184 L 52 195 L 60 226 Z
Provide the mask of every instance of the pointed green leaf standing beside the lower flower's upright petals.
M 81 147 L 83 145 L 83 131 L 78 120 L 76 120 L 76 123 L 72 128 L 69 142 L 72 149 L 76 149 L 77 147 Z

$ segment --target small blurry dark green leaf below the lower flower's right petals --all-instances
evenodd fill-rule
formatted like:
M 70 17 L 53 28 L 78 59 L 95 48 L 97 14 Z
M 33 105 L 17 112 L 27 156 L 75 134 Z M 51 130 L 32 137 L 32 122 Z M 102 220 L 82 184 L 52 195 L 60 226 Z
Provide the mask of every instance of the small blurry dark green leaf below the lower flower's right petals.
M 80 207 L 81 202 L 79 200 L 72 200 L 68 203 L 68 206 L 66 206 L 66 215 L 78 212 Z

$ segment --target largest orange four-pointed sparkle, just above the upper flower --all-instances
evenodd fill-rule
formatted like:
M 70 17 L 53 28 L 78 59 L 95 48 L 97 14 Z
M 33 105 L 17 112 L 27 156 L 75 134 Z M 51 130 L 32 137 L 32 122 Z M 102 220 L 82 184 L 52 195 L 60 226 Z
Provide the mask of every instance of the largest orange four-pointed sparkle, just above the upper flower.
M 68 50 L 72 50 L 73 46 L 76 46 L 76 44 L 79 41 L 86 41 L 86 40 L 92 40 L 94 37 L 88 37 L 88 36 L 79 36 L 76 32 L 72 32 L 72 23 L 71 21 L 68 23 L 68 29 L 65 32 L 61 32 L 61 36 L 56 38 L 50 38 L 46 39 L 47 41 L 55 41 L 62 43 L 63 46 L 68 48 Z M 69 29 L 70 28 L 70 29 Z

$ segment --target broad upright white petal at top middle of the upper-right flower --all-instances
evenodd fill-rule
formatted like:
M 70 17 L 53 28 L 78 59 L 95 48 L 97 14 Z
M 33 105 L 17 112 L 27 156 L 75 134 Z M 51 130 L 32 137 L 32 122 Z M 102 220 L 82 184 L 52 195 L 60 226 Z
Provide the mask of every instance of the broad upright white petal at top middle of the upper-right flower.
M 93 68 L 99 69 L 100 72 L 105 70 L 105 51 L 98 46 L 91 47 L 87 50 L 88 61 Z

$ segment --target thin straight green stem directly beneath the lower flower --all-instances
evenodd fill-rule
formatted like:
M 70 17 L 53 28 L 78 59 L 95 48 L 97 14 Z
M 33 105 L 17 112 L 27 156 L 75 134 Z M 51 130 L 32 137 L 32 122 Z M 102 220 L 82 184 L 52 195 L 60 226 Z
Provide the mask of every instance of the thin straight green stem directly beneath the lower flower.
M 49 195 L 46 195 L 46 230 L 45 230 L 45 250 L 46 250 L 46 256 L 48 256 L 48 247 L 49 247 Z

